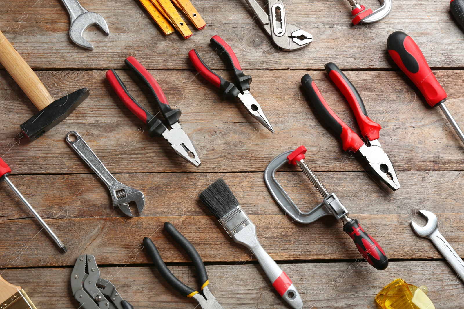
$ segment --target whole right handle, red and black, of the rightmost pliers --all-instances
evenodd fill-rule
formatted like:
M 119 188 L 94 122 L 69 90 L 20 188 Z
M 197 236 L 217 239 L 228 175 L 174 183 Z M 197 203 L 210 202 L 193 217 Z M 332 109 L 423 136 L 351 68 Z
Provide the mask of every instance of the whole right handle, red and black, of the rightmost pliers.
M 379 139 L 381 126 L 367 116 L 366 107 L 361 99 L 361 95 L 359 95 L 358 90 L 354 88 L 354 85 L 348 77 L 345 76 L 342 70 L 333 62 L 326 63 L 324 68 L 329 74 L 330 79 L 335 83 L 337 88 L 342 91 L 342 94 L 347 99 L 348 104 L 353 110 L 354 117 L 356 117 L 358 126 L 361 129 L 362 136 L 369 140 Z

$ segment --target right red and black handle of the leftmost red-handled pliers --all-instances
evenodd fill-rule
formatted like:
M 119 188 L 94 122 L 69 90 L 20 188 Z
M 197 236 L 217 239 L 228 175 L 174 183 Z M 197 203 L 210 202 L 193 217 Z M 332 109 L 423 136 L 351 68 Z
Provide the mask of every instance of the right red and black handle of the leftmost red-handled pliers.
M 151 94 L 155 97 L 155 102 L 158 104 L 161 114 L 163 114 L 164 119 L 168 121 L 168 124 L 172 126 L 174 123 L 179 122 L 180 115 L 182 114 L 180 109 L 172 109 L 169 106 L 166 95 L 164 95 L 160 85 L 158 85 L 158 82 L 156 82 L 150 72 L 148 72 L 148 70 L 132 56 L 126 58 L 124 63 L 126 63 L 129 69 L 131 69 L 131 71 L 148 86 Z

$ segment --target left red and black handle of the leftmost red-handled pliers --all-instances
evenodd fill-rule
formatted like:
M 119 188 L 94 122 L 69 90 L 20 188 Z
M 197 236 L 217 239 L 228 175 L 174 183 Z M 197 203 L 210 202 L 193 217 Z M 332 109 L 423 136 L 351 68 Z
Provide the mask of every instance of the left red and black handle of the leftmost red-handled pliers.
M 124 82 L 116 74 L 114 69 L 106 72 L 106 79 L 110 82 L 111 87 L 115 90 L 116 95 L 121 99 L 122 103 L 129 108 L 129 110 L 149 126 L 148 134 L 150 137 L 161 136 L 166 131 L 167 127 L 148 110 L 137 102 L 126 88 Z

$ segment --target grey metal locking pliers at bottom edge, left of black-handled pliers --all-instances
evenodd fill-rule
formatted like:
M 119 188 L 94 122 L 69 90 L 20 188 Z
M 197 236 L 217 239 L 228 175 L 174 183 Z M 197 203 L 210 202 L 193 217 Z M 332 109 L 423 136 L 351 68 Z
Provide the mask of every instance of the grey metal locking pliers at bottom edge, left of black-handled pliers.
M 90 254 L 77 257 L 71 272 L 71 290 L 82 309 L 134 309 L 114 284 L 100 278 L 95 257 Z

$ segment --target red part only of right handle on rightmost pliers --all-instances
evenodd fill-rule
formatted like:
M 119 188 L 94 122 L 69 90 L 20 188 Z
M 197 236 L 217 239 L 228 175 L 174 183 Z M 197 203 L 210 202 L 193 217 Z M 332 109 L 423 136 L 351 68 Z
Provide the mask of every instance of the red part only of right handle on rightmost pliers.
M 353 110 L 354 117 L 356 117 L 358 126 L 361 129 L 362 136 L 367 137 L 369 140 L 379 139 L 380 129 L 382 127 L 363 113 L 361 104 L 364 107 L 364 103 L 362 101 L 360 102 L 361 97 L 359 97 L 359 94 L 354 94 L 353 89 L 350 87 L 350 85 L 348 85 L 348 82 L 336 70 L 331 70 L 329 76 L 347 99 L 348 104 Z

